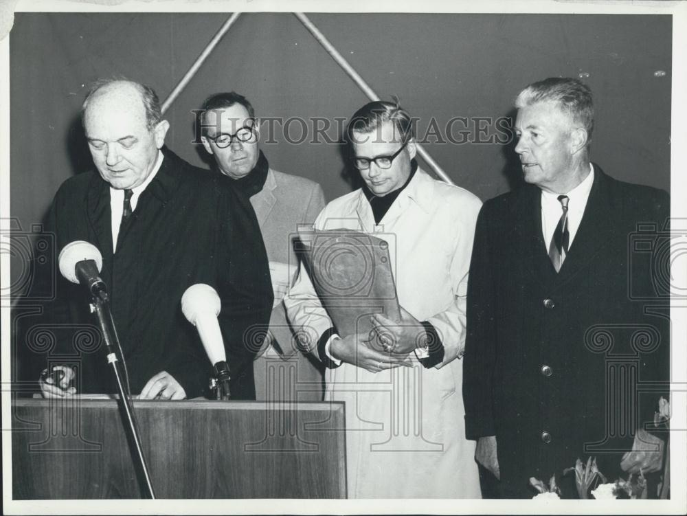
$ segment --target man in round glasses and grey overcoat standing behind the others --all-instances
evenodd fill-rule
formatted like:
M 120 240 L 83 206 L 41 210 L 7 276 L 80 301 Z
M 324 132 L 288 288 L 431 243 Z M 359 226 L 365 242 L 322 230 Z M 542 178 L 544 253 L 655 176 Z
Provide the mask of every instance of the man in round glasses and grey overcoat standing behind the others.
M 291 235 L 299 225 L 315 221 L 324 207 L 322 188 L 269 166 L 258 143 L 255 111 L 245 97 L 216 93 L 203 102 L 200 113 L 203 146 L 218 170 L 250 198 L 269 258 L 274 304 L 268 339 L 254 362 L 256 399 L 322 401 L 322 367 L 298 350 L 282 304 L 298 264 Z M 273 366 L 286 371 L 269 375 Z M 295 385 L 268 385 L 268 377 L 293 378 Z

